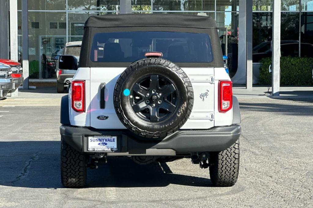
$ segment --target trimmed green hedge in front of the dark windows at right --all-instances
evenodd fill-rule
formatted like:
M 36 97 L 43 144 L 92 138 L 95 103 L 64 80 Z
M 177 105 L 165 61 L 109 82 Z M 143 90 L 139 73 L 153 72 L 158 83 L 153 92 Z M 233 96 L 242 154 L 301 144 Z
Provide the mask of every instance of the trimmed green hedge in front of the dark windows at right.
M 269 65 L 272 58 L 260 61 L 259 84 L 271 84 L 272 76 Z M 280 85 L 313 85 L 312 79 L 313 58 L 281 57 L 280 58 Z

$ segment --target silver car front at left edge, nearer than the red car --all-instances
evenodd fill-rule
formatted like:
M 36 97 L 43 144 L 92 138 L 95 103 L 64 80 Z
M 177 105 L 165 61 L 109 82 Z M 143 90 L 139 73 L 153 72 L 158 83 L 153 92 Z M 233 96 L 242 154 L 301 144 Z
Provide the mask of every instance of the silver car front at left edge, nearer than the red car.
M 12 90 L 13 81 L 11 74 L 11 67 L 0 63 L 0 100 Z

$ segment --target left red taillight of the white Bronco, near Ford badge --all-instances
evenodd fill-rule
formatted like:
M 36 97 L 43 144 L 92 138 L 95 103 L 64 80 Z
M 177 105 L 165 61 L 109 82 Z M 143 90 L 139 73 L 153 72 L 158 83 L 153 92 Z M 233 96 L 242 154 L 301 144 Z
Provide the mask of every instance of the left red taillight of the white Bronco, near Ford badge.
M 71 84 L 72 108 L 76 112 L 85 111 L 85 81 L 74 80 Z

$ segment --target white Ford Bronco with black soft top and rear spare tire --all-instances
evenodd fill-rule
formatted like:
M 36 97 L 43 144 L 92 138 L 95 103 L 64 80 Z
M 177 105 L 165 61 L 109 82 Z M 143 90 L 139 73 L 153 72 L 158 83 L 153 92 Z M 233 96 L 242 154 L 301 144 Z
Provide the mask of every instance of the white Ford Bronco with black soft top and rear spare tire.
M 86 185 L 87 167 L 110 157 L 139 164 L 190 158 L 214 186 L 239 171 L 239 103 L 211 17 L 125 14 L 89 17 L 79 65 L 62 97 L 61 180 Z M 105 177 L 105 176 L 104 176 Z

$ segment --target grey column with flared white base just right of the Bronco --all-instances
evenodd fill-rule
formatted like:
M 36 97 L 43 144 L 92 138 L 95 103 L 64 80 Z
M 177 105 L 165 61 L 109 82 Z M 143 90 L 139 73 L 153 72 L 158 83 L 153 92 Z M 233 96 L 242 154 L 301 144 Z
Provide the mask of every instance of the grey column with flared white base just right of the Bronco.
M 252 89 L 252 1 L 239 1 L 238 69 L 232 81 Z M 247 82 L 248 81 L 248 82 Z

